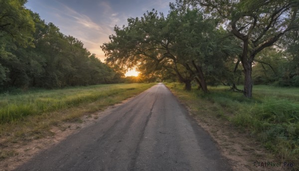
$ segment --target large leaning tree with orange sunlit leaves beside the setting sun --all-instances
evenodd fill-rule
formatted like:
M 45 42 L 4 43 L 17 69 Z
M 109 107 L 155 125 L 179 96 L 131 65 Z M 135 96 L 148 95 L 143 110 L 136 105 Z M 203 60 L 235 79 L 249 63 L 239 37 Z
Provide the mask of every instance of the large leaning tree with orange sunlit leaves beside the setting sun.
M 141 18 L 129 18 L 128 26 L 116 26 L 116 35 L 111 35 L 111 41 L 101 46 L 107 56 L 106 62 L 123 71 L 141 65 L 140 69 L 152 72 L 164 68 L 174 72 L 189 90 L 194 76 L 171 53 L 174 37 L 167 24 L 167 18 L 153 10 Z

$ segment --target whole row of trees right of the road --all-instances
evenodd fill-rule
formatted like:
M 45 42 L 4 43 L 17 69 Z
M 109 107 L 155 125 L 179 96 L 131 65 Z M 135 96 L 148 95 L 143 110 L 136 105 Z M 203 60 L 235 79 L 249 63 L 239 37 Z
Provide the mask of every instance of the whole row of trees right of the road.
M 176 0 L 116 26 L 101 47 L 106 62 L 160 80 L 228 85 L 252 97 L 253 84 L 299 86 L 298 0 Z M 236 85 L 244 84 L 243 89 Z

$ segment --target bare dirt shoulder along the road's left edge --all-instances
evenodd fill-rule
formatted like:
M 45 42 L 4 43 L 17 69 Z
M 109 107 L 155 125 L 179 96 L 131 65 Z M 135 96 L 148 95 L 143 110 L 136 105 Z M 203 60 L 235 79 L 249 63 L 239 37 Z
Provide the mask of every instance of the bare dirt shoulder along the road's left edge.
M 45 137 L 38 138 L 36 135 L 34 135 L 35 137 L 27 136 L 25 139 L 18 139 L 18 141 L 6 141 L 14 135 L 1 137 L 0 152 L 2 156 L 0 156 L 0 171 L 14 170 L 17 166 L 29 161 L 34 155 L 57 145 L 69 135 L 79 132 L 81 128 L 97 123 L 98 119 L 105 117 L 110 114 L 114 108 L 130 101 L 133 98 L 134 97 L 126 99 L 113 106 L 109 106 L 104 111 L 86 113 L 77 121 L 61 122 L 56 126 L 51 126 L 51 134 L 47 134 Z

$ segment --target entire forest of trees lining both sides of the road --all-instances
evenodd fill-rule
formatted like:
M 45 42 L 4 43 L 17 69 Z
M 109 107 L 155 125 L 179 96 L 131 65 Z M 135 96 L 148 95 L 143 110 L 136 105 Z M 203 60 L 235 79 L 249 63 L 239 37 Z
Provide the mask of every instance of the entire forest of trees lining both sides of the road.
M 299 86 L 299 2 L 177 0 L 115 26 L 101 62 L 83 43 L 24 7 L 0 0 L 0 89 L 120 82 Z M 139 78 L 124 73 L 137 68 Z M 237 85 L 244 85 L 238 88 Z

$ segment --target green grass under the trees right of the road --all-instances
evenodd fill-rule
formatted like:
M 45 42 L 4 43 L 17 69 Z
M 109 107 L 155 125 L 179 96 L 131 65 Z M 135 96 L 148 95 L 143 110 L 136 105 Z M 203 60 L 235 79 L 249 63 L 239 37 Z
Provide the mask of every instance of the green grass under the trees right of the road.
M 225 86 L 209 87 L 210 92 L 203 94 L 196 88 L 183 91 L 184 85 L 179 83 L 166 85 L 183 93 L 184 100 L 213 103 L 208 110 L 217 111 L 216 117 L 249 132 L 278 158 L 295 163 L 295 170 L 299 169 L 299 88 L 254 86 L 253 98 L 248 99 Z

